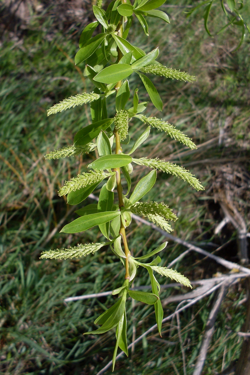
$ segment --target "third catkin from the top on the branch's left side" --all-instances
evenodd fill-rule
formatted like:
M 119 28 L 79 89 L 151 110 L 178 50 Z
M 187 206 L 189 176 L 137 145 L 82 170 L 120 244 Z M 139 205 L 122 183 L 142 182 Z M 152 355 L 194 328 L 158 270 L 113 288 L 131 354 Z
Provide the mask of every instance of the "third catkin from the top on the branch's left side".
M 78 174 L 77 177 L 73 177 L 70 181 L 65 181 L 64 186 L 58 191 L 58 195 L 66 195 L 72 191 L 81 189 L 81 187 L 101 182 L 103 178 L 111 175 L 112 173 L 105 173 L 103 171 L 90 171 Z

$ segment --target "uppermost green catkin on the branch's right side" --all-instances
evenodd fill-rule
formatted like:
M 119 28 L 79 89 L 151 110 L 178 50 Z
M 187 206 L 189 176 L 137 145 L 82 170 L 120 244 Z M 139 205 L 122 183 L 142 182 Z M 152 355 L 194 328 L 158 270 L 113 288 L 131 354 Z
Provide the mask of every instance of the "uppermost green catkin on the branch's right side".
M 197 77 L 195 77 L 194 75 L 189 75 L 188 73 L 181 72 L 180 70 L 167 68 L 166 66 L 160 64 L 145 66 L 144 68 L 140 68 L 140 71 L 144 73 L 164 76 L 166 78 L 172 78 L 172 80 L 175 79 L 187 82 L 194 82 L 197 80 Z

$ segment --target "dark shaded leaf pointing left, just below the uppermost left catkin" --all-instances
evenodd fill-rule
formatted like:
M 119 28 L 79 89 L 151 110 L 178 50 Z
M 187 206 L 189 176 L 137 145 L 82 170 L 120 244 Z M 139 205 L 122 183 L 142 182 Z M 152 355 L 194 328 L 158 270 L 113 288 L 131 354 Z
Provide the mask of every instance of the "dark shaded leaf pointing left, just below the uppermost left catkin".
M 92 139 L 99 135 L 101 130 L 107 129 L 114 122 L 114 118 L 106 118 L 105 120 L 97 121 L 94 124 L 88 125 L 76 133 L 74 138 L 75 146 L 82 146 L 91 142 Z

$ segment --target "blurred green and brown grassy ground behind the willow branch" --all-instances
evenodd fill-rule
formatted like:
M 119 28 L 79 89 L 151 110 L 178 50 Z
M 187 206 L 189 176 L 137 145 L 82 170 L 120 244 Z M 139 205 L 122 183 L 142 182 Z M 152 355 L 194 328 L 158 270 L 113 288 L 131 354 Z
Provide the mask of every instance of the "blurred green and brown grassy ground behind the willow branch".
M 205 186 L 196 192 L 184 181 L 158 173 L 154 189 L 145 199 L 164 201 L 179 219 L 174 236 L 187 240 L 226 260 L 248 263 L 247 229 L 250 220 L 250 37 L 234 53 L 241 31 L 230 27 L 210 37 L 204 29 L 203 10 L 187 18 L 193 0 L 171 0 L 160 9 L 170 24 L 149 18 L 150 37 L 135 20 L 128 40 L 149 52 L 160 47 L 159 61 L 197 75 L 193 84 L 154 77 L 163 100 L 163 113 L 148 105 L 148 116 L 162 117 L 193 138 L 197 150 L 187 150 L 167 135 L 152 129 L 135 157 L 160 157 L 180 163 Z M 109 291 L 124 278 L 109 249 L 72 260 L 39 260 L 42 251 L 103 240 L 98 228 L 84 233 L 59 234 L 76 218 L 57 190 L 64 180 L 86 171 L 94 154 L 45 160 L 44 154 L 72 145 L 73 136 L 90 123 L 89 107 L 46 117 L 53 104 L 77 93 L 91 92 L 84 66 L 73 59 L 84 26 L 94 20 L 90 1 L 1 1 L 0 16 L 0 371 L 1 374 L 96 374 L 110 359 L 114 332 L 83 336 L 94 319 L 111 306 L 114 297 L 68 302 L 66 297 Z M 248 5 L 249 6 L 249 5 Z M 250 9 L 244 7 L 250 22 Z M 226 23 L 217 8 L 211 9 L 211 32 Z M 147 93 L 136 75 L 130 91 L 138 87 L 139 99 Z M 114 115 L 112 98 L 108 98 Z M 132 123 L 132 142 L 142 123 Z M 130 145 L 124 145 L 124 152 Z M 133 185 L 146 173 L 135 167 Z M 124 183 L 125 186 L 125 183 Z M 98 188 L 100 190 L 100 187 Z M 97 189 L 97 191 L 98 191 Z M 86 204 L 92 203 L 88 199 Z M 81 207 L 81 205 L 79 205 Z M 225 225 L 218 225 L 225 219 Z M 229 217 L 229 219 L 228 219 Z M 231 219 L 230 219 L 231 218 Z M 240 234 L 244 233 L 244 241 Z M 133 254 L 145 254 L 165 240 L 139 222 L 129 227 Z M 166 266 L 185 248 L 169 241 L 161 254 Z M 190 280 L 227 272 L 213 260 L 190 252 L 175 264 Z M 159 276 L 160 284 L 170 280 Z M 145 272 L 135 281 L 149 285 Z M 164 316 L 175 311 L 172 296 L 187 288 L 161 291 L 168 299 Z M 114 374 L 192 374 L 214 294 L 205 297 L 176 319 L 163 325 L 163 337 L 154 331 L 117 361 Z M 246 317 L 244 281 L 229 288 L 223 300 L 202 374 L 219 374 L 240 356 L 243 338 L 237 334 Z M 128 302 L 129 342 L 155 324 L 152 306 Z M 182 354 L 181 354 L 182 350 Z M 183 365 L 184 355 L 184 365 Z M 107 374 L 111 374 L 109 369 Z

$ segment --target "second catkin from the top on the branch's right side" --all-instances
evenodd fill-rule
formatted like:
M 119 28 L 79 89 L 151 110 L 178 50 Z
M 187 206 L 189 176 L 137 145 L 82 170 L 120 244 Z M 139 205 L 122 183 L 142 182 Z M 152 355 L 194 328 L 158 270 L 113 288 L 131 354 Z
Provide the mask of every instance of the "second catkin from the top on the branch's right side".
M 169 124 L 168 121 L 163 121 L 162 119 L 156 117 L 146 117 L 144 115 L 136 115 L 135 117 L 139 118 L 145 124 L 151 125 L 160 131 L 168 133 L 171 138 L 176 139 L 187 147 L 190 147 L 192 150 L 197 148 L 194 142 L 192 142 L 192 139 L 190 139 L 180 130 L 176 129 L 174 125 Z

